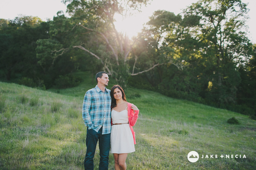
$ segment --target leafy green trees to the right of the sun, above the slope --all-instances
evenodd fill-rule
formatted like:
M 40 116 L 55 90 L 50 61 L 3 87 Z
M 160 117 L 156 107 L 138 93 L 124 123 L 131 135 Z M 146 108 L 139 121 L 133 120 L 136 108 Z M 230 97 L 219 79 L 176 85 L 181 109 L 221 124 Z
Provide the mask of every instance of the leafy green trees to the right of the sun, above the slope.
M 129 85 L 253 115 L 255 75 L 249 70 L 256 53 L 241 31 L 247 12 L 241 1 L 217 0 L 198 1 L 183 17 L 154 12 L 132 54 L 139 68 L 166 64 L 130 77 Z

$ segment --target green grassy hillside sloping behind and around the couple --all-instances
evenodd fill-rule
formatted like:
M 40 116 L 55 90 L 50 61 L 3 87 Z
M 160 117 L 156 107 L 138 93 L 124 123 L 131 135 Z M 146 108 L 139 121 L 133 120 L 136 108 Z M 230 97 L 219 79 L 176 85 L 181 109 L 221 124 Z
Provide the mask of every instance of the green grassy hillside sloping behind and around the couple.
M 96 85 L 91 75 L 84 80 L 78 87 L 48 91 L 0 82 L 0 169 L 83 169 L 82 102 Z M 256 121 L 248 116 L 147 90 L 125 93 L 140 109 L 136 151 L 128 154 L 127 169 L 255 169 Z M 240 124 L 228 124 L 231 117 Z M 197 162 L 188 161 L 190 151 L 198 152 Z M 98 149 L 94 160 L 98 169 Z

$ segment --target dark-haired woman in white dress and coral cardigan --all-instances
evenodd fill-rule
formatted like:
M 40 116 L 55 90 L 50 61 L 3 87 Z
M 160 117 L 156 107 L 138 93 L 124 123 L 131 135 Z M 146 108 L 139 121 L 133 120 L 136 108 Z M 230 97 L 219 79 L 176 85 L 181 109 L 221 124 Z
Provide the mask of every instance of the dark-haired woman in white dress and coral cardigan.
M 116 170 L 126 170 L 126 157 L 134 152 L 135 132 L 133 127 L 138 119 L 139 109 L 126 101 L 122 87 L 115 85 L 111 92 L 111 153 L 115 159 Z

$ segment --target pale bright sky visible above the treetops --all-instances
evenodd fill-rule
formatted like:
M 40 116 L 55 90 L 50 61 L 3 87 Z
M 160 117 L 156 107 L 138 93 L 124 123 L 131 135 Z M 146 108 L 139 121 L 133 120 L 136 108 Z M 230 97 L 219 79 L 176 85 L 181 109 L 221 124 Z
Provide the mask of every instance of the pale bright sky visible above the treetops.
M 118 30 L 127 32 L 129 36 L 136 35 L 140 32 L 143 24 L 148 22 L 148 17 L 158 9 L 173 12 L 179 14 L 182 9 L 185 9 L 191 3 L 197 2 L 197 0 L 153 0 L 151 5 L 142 9 L 142 13 L 137 14 L 130 19 L 126 19 L 115 24 Z M 248 37 L 252 42 L 256 43 L 256 23 L 254 17 L 256 11 L 256 0 L 242 0 L 244 3 L 248 3 L 247 8 L 250 9 L 249 17 L 247 22 L 249 26 Z M 0 18 L 3 19 L 14 19 L 18 15 L 26 16 L 38 16 L 42 20 L 53 19 L 58 11 L 66 11 L 66 6 L 61 0 L 0 0 Z

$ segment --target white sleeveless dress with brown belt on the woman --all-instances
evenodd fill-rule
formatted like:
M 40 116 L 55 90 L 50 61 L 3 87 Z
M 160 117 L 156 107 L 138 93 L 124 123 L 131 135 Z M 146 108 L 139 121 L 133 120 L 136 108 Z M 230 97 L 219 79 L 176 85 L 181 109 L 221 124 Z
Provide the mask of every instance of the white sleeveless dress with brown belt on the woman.
M 127 108 L 127 107 L 126 107 Z M 128 123 L 128 111 L 111 111 L 112 123 Z M 135 151 L 133 134 L 129 124 L 117 124 L 111 127 L 110 136 L 111 153 L 123 154 Z

